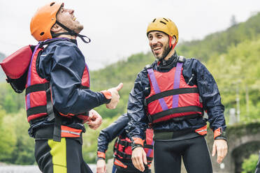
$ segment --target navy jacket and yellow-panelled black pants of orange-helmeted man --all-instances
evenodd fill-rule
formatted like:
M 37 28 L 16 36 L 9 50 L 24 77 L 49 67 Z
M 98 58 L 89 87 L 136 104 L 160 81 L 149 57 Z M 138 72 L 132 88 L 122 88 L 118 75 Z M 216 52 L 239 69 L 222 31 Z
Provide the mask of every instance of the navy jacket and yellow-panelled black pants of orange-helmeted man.
M 43 116 L 30 121 L 28 131 L 36 141 L 38 167 L 44 173 L 92 172 L 82 159 L 82 133 L 85 132 L 85 126 L 75 115 L 88 113 L 92 108 L 106 103 L 107 99 L 101 92 L 82 87 L 87 82 L 84 78 L 88 70 L 85 57 L 75 40 L 64 39 L 45 46 L 38 53 L 36 62 L 32 63 L 32 66 L 36 66 L 32 73 L 38 73 L 50 82 L 55 119 L 59 119 L 62 126 L 62 139 L 57 142 L 53 140 L 55 120 L 49 121 L 48 116 Z

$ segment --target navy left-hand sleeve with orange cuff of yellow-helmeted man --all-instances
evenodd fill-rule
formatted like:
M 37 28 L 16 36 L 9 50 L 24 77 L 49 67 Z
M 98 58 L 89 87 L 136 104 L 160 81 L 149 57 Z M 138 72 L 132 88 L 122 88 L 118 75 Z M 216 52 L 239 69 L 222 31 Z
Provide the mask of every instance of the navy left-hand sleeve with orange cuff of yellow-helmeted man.
M 147 78 L 147 70 L 138 73 L 133 89 L 129 93 L 129 101 L 127 106 L 127 115 L 129 116 L 129 135 L 133 143 L 143 145 L 145 137 L 145 129 L 147 128 L 148 119 L 145 113 L 143 101 L 145 93 L 149 88 L 149 80 Z

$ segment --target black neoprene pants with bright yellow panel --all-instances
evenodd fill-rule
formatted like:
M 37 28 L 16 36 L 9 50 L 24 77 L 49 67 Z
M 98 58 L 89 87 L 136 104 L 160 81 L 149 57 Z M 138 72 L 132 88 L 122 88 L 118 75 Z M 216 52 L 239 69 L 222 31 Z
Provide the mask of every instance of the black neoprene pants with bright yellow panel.
M 43 173 L 92 173 L 82 158 L 82 145 L 73 138 L 35 141 L 35 158 Z

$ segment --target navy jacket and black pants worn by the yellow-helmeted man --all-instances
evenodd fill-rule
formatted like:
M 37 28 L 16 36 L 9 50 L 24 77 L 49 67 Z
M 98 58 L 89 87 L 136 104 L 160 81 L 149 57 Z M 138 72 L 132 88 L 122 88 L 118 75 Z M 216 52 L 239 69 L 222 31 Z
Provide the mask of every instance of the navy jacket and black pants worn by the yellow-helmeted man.
M 168 61 L 154 61 L 152 70 L 157 70 L 161 76 L 164 76 L 163 73 L 168 73 L 177 66 L 179 58 L 175 52 Z M 203 110 L 208 112 L 208 119 L 203 116 L 193 116 L 186 119 L 168 119 L 152 123 L 154 169 L 155 172 L 180 172 L 182 157 L 188 172 L 209 173 L 212 172 L 212 165 L 203 137 L 206 134 L 206 122 L 207 120 L 210 122 L 210 128 L 215 132 L 215 140 L 225 140 L 224 106 L 221 103 L 217 84 L 207 68 L 196 59 L 185 59 L 182 63 L 181 75 L 189 86 L 197 86 Z M 140 146 L 138 143 L 140 140 L 136 139 L 143 139 L 143 130 L 148 123 L 151 123 L 144 103 L 145 98 L 151 92 L 149 77 L 147 68 L 138 73 L 134 87 L 129 94 L 127 114 L 131 119 L 129 135 L 132 137 L 133 147 Z

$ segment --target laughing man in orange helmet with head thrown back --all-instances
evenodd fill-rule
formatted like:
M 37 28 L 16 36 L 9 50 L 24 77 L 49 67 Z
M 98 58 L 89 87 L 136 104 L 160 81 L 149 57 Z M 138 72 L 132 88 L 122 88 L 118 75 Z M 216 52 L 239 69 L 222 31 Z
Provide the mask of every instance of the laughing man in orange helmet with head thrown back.
M 75 38 L 90 40 L 79 34 L 83 25 L 64 3 L 38 8 L 30 28 L 39 43 L 27 73 L 26 106 L 38 167 L 45 173 L 92 172 L 82 158 L 84 123 L 99 128 L 101 116 L 92 109 L 115 109 L 122 83 L 107 91 L 89 89 L 89 70 Z

